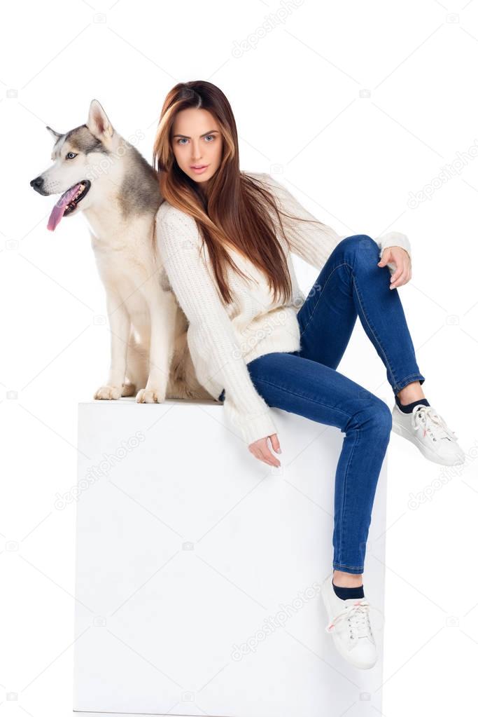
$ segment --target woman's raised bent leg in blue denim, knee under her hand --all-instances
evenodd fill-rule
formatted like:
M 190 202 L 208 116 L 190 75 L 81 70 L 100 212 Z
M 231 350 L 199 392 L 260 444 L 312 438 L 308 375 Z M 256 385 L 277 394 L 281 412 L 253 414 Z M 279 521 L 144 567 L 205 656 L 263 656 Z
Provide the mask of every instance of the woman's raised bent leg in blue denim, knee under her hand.
M 388 268 L 377 266 L 379 255 L 378 244 L 365 234 L 337 244 L 298 312 L 301 350 L 294 353 L 336 369 L 358 316 L 397 394 L 425 379 L 398 290 L 389 288 Z

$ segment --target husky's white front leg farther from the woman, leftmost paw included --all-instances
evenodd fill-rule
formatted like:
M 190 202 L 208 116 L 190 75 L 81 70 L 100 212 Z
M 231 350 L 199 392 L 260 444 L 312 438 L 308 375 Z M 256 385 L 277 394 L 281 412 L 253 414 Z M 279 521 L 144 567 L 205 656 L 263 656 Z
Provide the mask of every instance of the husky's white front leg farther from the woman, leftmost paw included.
M 106 384 L 94 394 L 94 399 L 116 400 L 125 388 L 126 355 L 130 338 L 130 316 L 117 294 L 107 291 L 107 311 L 111 333 L 111 364 Z

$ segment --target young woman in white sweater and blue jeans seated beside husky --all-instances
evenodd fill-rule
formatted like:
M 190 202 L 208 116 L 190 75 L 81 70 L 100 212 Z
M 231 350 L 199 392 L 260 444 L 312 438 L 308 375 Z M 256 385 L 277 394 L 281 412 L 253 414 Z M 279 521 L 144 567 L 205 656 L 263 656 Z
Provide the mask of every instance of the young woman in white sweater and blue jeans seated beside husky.
M 268 465 L 280 465 L 268 440 L 281 452 L 270 407 L 345 434 L 335 478 L 333 574 L 321 594 L 338 651 L 370 668 L 377 655 L 362 574 L 392 414 L 394 430 L 429 460 L 464 460 L 457 437 L 424 396 L 396 291 L 411 277 L 409 241 L 398 232 L 339 237 L 272 176 L 240 171 L 233 112 L 210 82 L 172 88 L 153 158 L 165 200 L 157 249 L 190 322 L 200 383 L 224 399 L 250 452 Z M 319 272 L 307 298 L 291 252 Z M 336 371 L 357 316 L 386 367 L 393 412 Z

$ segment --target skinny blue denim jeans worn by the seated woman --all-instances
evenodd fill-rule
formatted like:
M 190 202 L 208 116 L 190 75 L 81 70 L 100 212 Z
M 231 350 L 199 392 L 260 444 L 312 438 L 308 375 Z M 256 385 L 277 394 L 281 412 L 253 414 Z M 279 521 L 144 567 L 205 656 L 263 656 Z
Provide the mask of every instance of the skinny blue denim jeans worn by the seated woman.
M 333 569 L 356 574 L 364 572 L 376 485 L 391 432 L 387 404 L 336 371 L 357 316 L 394 394 L 411 381 L 425 380 L 398 290 L 389 288 L 388 267 L 377 266 L 379 253 L 365 234 L 342 239 L 298 311 L 301 350 L 266 353 L 247 364 L 268 406 L 345 434 L 335 478 Z

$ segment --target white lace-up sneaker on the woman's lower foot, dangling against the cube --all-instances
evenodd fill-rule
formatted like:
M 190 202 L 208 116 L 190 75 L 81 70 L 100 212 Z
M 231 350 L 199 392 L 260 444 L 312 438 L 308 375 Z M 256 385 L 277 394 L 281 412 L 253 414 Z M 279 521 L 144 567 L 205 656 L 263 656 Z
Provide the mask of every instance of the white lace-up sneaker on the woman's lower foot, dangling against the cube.
M 333 592 L 331 575 L 323 581 L 321 594 L 329 620 L 326 632 L 331 633 L 339 654 L 356 668 L 373 668 L 377 649 L 370 626 L 369 601 L 353 597 L 341 600 Z

